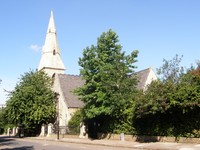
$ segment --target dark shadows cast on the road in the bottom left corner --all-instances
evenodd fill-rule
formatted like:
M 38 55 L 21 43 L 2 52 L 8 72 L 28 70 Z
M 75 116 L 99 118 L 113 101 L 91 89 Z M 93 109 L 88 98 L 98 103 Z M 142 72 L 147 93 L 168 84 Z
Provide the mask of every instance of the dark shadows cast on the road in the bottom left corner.
M 15 142 L 16 140 L 13 137 L 0 136 L 0 149 L 1 150 L 34 150 L 33 146 L 22 146 L 22 147 L 16 147 L 16 148 L 1 148 L 4 146 L 12 145 Z

